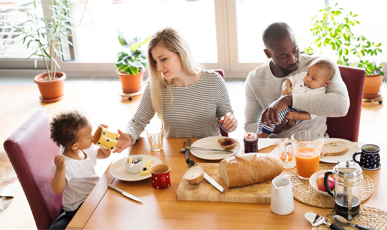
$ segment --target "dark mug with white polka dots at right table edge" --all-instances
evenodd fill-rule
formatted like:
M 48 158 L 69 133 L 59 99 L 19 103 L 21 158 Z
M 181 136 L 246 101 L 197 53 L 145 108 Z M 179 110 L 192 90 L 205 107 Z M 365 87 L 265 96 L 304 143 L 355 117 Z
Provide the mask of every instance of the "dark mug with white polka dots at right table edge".
M 377 170 L 380 168 L 379 150 L 377 145 L 363 145 L 361 146 L 361 152 L 355 152 L 352 158 L 363 169 Z M 355 159 L 357 155 L 360 155 L 360 160 Z

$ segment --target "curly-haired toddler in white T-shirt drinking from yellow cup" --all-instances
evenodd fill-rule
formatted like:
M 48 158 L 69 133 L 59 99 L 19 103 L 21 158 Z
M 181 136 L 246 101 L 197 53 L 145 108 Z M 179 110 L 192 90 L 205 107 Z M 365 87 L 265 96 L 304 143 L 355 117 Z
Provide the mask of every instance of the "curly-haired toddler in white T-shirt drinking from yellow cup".
M 50 229 L 65 229 L 99 180 L 96 159 L 109 157 L 111 151 L 93 145 L 92 125 L 78 111 L 58 114 L 50 126 L 51 139 L 62 147 L 52 165 L 51 188 L 56 194 L 63 192 L 63 209 Z

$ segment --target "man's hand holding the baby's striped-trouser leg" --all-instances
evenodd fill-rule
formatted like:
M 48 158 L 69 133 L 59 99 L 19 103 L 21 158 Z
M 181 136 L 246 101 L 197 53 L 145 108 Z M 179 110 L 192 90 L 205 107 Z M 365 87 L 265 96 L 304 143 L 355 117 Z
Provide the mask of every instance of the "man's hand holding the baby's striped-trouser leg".
M 288 106 L 293 105 L 293 97 L 292 95 L 286 95 L 281 99 L 278 99 L 274 102 L 274 104 L 270 107 L 267 107 L 265 111 L 262 113 L 262 121 L 266 121 L 266 123 L 271 127 L 270 121 L 278 125 L 279 117 L 278 114 L 282 110 L 286 109 Z

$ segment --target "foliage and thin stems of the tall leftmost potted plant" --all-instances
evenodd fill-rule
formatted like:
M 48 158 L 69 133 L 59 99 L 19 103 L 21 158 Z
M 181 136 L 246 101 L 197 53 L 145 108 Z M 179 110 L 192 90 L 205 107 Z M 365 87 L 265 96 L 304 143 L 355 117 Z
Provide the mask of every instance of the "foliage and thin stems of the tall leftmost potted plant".
M 43 58 L 48 73 L 47 80 L 55 80 L 56 66 L 60 68 L 57 58 L 61 52 L 62 42 L 73 45 L 67 38 L 70 36 L 68 30 L 71 29 L 73 5 L 70 0 L 52 0 L 48 8 L 51 10 L 50 16 L 40 15 L 39 9 L 42 1 L 33 1 L 34 10 L 21 10 L 26 14 L 27 21 L 22 25 L 14 27 L 22 36 L 23 44 L 27 49 L 33 47 L 33 53 L 27 58 L 35 58 L 35 68 L 38 58 Z M 49 62 L 49 63 L 48 63 Z

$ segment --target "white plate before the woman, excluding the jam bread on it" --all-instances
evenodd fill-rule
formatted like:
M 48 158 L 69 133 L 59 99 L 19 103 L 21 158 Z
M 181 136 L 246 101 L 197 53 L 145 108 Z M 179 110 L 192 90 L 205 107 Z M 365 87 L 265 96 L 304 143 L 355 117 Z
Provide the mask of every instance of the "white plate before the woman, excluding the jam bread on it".
M 208 149 L 220 149 L 223 150 L 220 144 L 218 143 L 219 139 L 227 138 L 225 136 L 209 136 L 202 138 L 196 142 L 194 142 L 191 146 L 193 147 L 200 147 L 200 148 L 208 148 Z M 236 140 L 235 140 L 236 141 Z M 207 151 L 207 150 L 193 150 L 191 149 L 192 155 L 202 158 L 202 159 L 210 159 L 210 160 L 216 160 L 216 159 L 224 159 L 229 156 L 233 156 L 236 153 L 239 152 L 241 149 L 241 144 L 239 144 L 238 141 L 236 141 L 235 148 L 233 148 L 230 153 L 227 152 L 214 152 L 214 151 Z

